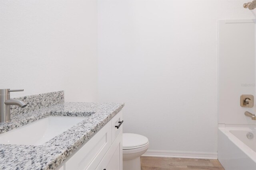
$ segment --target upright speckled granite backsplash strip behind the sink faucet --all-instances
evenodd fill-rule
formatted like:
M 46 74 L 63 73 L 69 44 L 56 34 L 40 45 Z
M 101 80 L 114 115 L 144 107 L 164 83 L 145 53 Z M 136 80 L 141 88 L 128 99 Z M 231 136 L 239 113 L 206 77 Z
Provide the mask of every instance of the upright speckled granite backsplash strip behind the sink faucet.
M 11 106 L 11 115 L 28 113 L 30 111 L 40 109 L 43 107 L 49 107 L 55 104 L 64 102 L 64 91 L 42 93 L 30 96 L 22 96 L 19 98 L 12 98 L 22 100 L 28 106 L 20 108 L 19 106 Z

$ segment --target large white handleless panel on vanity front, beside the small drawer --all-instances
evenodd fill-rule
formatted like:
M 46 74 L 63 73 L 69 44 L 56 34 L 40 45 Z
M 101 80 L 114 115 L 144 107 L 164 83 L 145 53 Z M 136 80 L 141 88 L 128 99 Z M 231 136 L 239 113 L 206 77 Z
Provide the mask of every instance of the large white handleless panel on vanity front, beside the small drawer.
M 112 123 L 109 121 L 87 143 L 70 155 L 70 159 L 66 160 L 64 165 L 65 170 L 91 170 L 93 166 L 96 167 L 112 143 L 111 125 Z

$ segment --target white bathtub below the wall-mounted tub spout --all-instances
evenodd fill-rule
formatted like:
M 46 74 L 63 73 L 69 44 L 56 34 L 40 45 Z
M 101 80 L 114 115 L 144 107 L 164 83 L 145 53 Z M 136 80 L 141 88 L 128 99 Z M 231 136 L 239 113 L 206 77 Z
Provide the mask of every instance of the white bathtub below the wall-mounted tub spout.
M 256 170 L 256 125 L 219 124 L 218 160 L 225 170 Z

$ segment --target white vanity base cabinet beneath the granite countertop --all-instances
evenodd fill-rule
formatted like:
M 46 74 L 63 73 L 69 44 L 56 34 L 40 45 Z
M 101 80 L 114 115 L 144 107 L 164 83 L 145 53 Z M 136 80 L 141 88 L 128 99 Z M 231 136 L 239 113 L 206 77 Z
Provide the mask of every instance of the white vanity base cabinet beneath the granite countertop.
M 56 170 L 122 170 L 121 122 L 120 111 Z

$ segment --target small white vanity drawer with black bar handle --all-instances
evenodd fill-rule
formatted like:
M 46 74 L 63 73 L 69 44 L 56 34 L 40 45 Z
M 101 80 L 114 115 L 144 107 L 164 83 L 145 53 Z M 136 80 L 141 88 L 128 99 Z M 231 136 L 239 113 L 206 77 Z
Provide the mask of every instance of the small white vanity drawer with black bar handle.
M 112 131 L 112 143 L 116 139 L 117 135 L 120 133 L 120 131 L 123 128 L 123 113 L 122 111 L 119 111 L 112 119 L 111 119 L 111 131 Z M 118 127 L 116 127 L 118 126 Z

